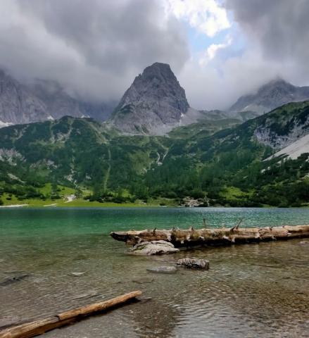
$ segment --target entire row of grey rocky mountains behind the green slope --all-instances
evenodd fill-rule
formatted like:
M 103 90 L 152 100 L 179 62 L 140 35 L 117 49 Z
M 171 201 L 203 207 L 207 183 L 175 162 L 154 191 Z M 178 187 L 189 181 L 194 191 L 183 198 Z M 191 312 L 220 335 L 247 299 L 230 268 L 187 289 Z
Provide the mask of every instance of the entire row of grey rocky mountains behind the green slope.
M 160 135 L 191 123 L 215 123 L 229 127 L 274 108 L 309 99 L 309 87 L 296 87 L 282 79 L 263 85 L 256 94 L 241 96 L 229 111 L 198 111 L 189 106 L 184 89 L 166 63 L 153 63 L 135 77 L 120 99 L 108 102 L 76 98 L 58 82 L 35 80 L 23 84 L 0 72 L 0 127 L 53 120 L 69 115 L 107 120 L 124 134 Z

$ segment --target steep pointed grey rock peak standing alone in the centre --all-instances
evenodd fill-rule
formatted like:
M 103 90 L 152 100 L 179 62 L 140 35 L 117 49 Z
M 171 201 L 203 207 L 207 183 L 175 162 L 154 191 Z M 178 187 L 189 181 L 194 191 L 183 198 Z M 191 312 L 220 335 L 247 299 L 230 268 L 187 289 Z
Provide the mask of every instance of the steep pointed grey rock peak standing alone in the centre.
M 111 124 L 129 134 L 164 134 L 187 113 L 184 89 L 165 63 L 153 63 L 135 77 L 111 117 Z

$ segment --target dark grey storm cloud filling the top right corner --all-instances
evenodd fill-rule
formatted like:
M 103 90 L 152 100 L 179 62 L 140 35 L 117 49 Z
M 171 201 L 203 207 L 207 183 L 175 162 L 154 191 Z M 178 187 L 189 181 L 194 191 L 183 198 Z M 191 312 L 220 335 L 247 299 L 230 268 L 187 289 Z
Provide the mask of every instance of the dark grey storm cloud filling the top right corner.
M 309 57 L 308 0 L 225 0 L 245 32 L 260 44 L 263 55 L 301 62 Z

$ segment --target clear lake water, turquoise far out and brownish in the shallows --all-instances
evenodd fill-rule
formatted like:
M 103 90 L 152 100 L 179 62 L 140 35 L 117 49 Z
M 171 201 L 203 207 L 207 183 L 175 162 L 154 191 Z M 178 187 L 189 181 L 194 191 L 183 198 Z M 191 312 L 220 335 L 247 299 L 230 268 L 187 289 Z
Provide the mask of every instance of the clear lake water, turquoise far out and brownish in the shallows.
M 309 239 L 208 247 L 168 256 L 125 253 L 113 230 L 304 225 L 308 208 L 0 209 L 0 325 L 34 320 L 140 289 L 151 300 L 45 334 L 97 337 L 309 337 Z M 210 270 L 153 274 L 178 258 Z M 84 273 L 75 277 L 72 273 Z

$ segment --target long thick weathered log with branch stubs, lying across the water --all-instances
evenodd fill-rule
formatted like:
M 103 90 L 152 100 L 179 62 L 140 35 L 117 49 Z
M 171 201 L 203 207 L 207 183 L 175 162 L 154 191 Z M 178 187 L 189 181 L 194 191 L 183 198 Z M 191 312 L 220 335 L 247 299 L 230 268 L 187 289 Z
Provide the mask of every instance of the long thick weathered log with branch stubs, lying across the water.
M 285 225 L 282 227 L 246 227 L 194 230 L 142 230 L 111 232 L 111 237 L 127 244 L 164 240 L 175 246 L 207 244 L 237 244 L 309 237 L 309 225 Z

